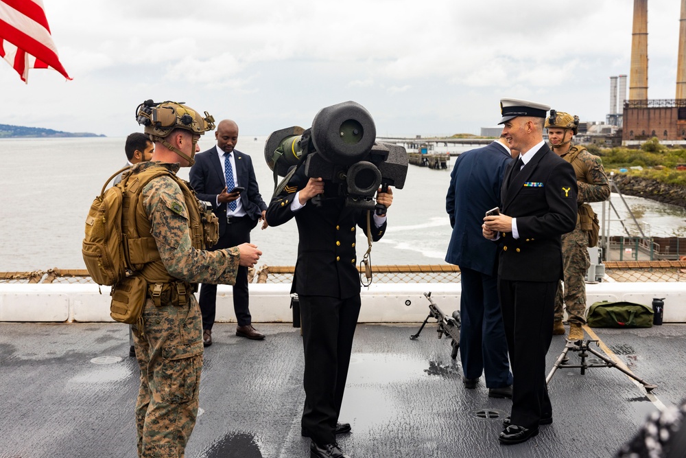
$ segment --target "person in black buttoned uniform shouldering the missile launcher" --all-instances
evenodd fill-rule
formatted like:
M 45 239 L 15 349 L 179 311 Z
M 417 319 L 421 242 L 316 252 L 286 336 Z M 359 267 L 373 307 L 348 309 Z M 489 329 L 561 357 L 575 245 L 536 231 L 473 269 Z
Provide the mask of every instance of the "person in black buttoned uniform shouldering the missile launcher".
M 298 293 L 305 347 L 305 408 L 302 435 L 311 437 L 311 457 L 346 458 L 335 435 L 351 431 L 338 422 L 353 334 L 360 308 L 355 226 L 367 231 L 367 212 L 346 207 L 339 185 L 307 178 L 303 167 L 292 176 L 267 209 L 270 226 L 291 218 L 298 224 L 298 260 L 291 287 Z M 320 205 L 311 202 L 322 194 Z M 377 193 L 390 207 L 392 192 Z M 370 216 L 372 240 L 386 231 L 386 215 Z M 349 458 L 349 457 L 348 457 Z

